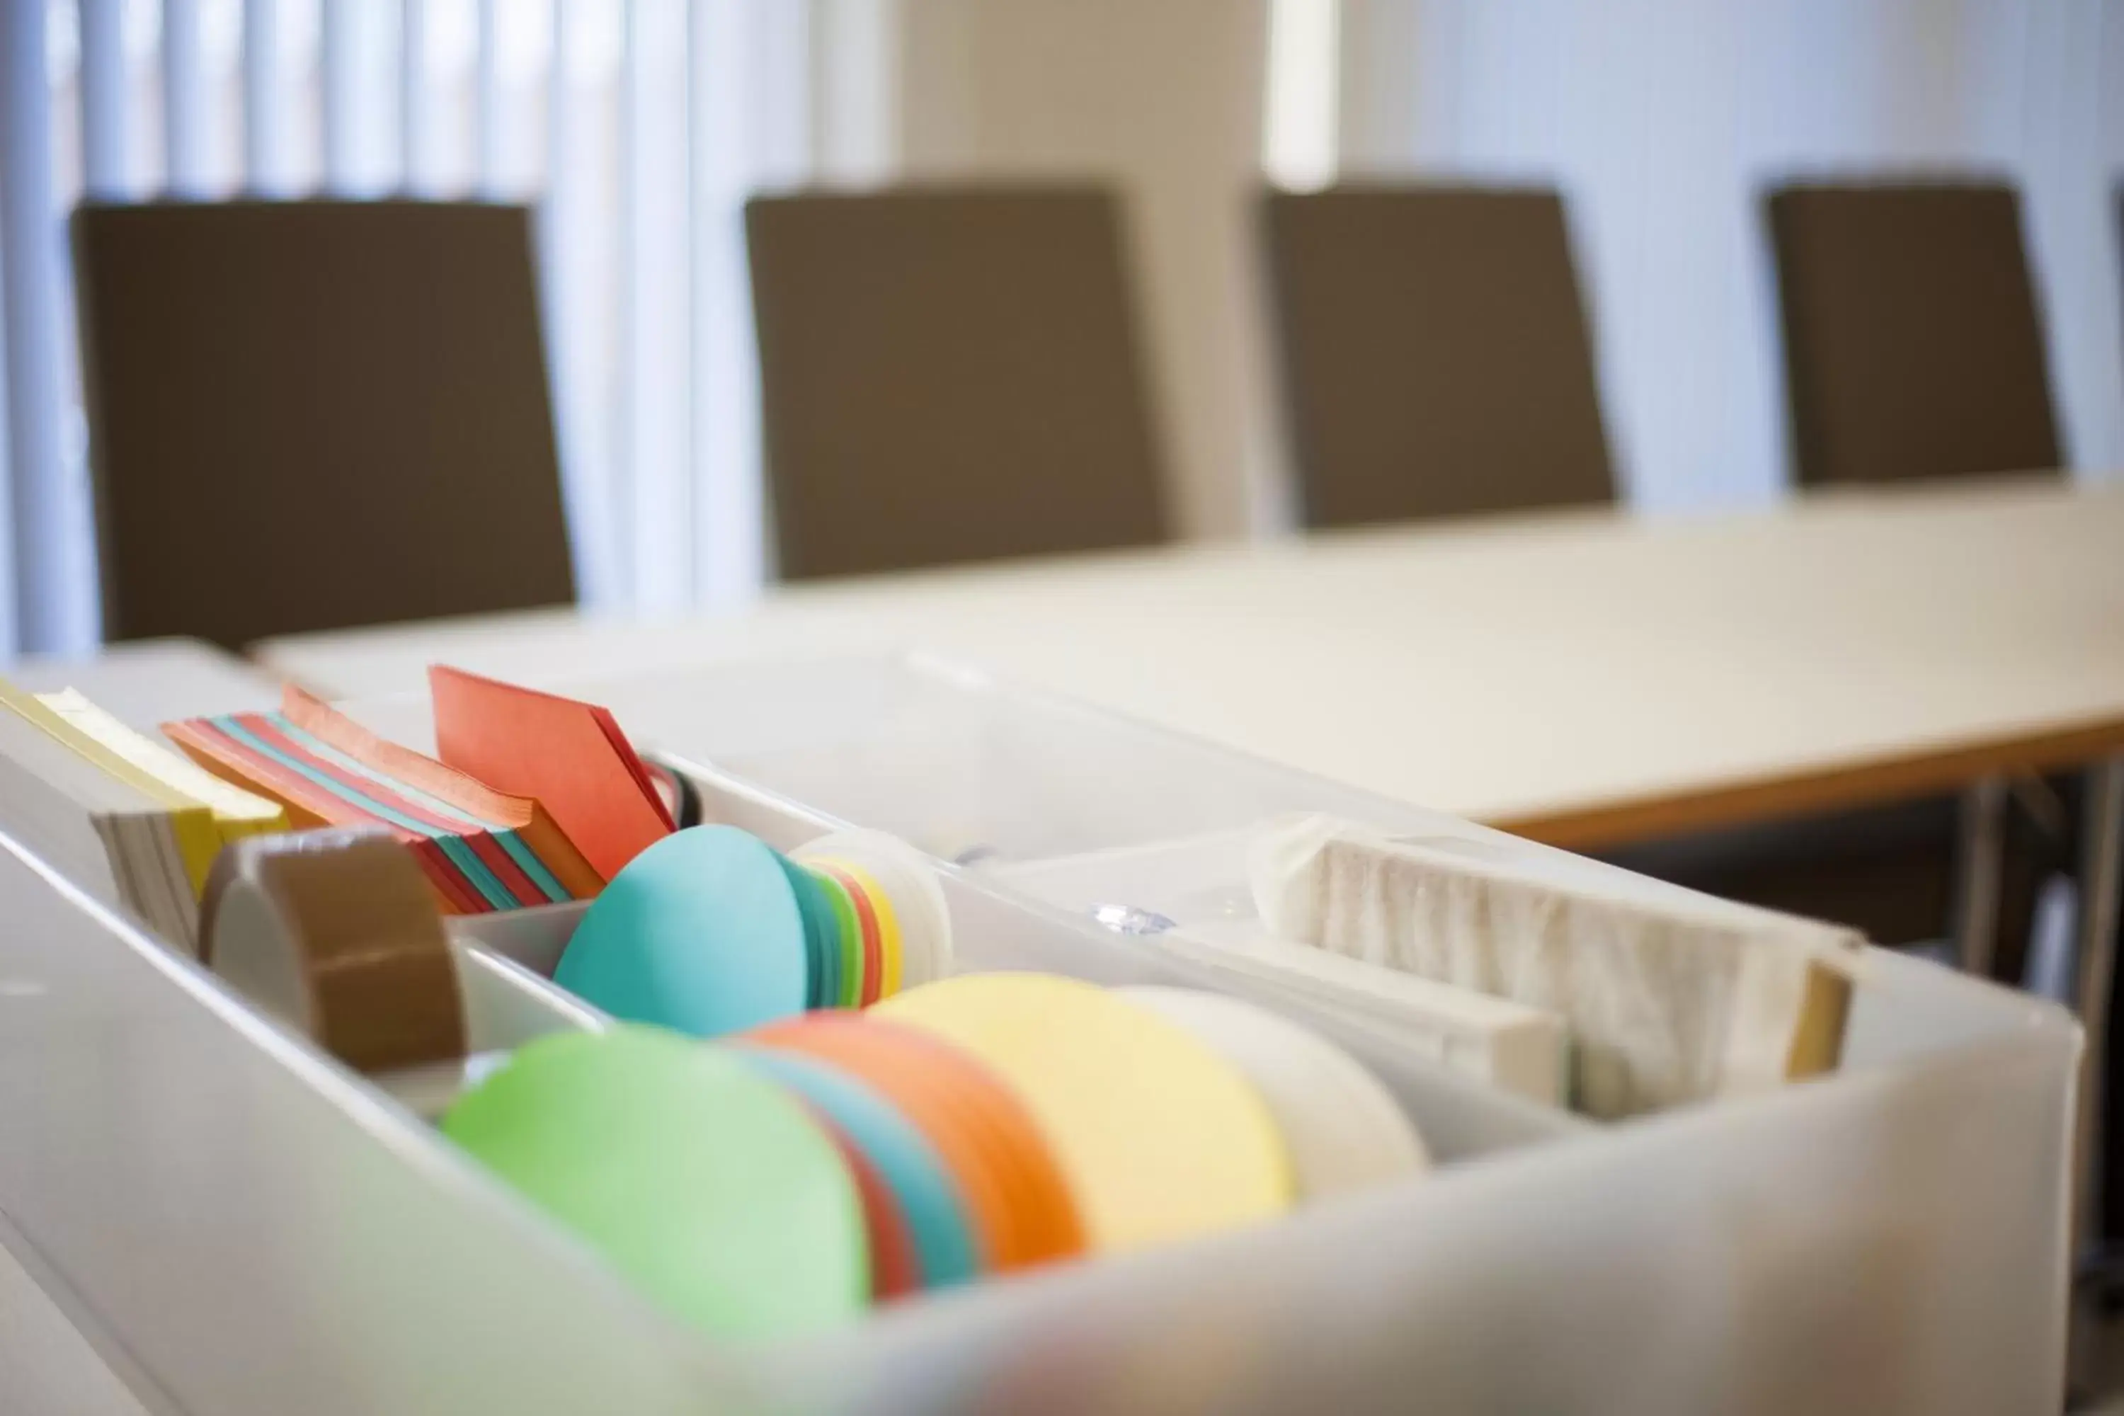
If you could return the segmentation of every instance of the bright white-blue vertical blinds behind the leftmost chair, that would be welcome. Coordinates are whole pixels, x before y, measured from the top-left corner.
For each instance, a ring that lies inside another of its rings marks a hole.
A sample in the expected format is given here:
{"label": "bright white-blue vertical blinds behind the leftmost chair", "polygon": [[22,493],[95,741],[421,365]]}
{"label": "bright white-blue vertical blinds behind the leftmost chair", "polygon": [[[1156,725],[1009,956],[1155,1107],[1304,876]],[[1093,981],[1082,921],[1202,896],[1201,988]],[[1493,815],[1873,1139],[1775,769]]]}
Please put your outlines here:
{"label": "bright white-blue vertical blinds behind the leftmost chair", "polygon": [[756,592],[741,202],[860,172],[892,0],[0,4],[0,654],[96,643],[66,212],[535,202],[584,603]]}

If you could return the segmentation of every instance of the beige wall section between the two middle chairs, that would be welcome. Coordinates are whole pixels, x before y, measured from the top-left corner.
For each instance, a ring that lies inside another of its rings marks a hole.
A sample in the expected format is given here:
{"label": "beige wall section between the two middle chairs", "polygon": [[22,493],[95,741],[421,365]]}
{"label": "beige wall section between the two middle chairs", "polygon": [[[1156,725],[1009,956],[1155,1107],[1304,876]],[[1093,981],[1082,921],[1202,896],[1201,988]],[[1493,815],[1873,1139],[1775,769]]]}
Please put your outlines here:
{"label": "beige wall section between the two middle chairs", "polygon": [[901,0],[907,176],[1111,176],[1183,533],[1270,516],[1251,200],[1266,0]]}

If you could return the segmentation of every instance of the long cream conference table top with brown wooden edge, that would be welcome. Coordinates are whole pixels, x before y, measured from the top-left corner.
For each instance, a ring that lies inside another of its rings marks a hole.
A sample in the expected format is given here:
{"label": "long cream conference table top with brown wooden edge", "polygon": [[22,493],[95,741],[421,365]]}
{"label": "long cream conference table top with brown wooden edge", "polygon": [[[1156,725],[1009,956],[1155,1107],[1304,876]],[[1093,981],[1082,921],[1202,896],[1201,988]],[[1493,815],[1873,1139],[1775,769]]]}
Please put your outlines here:
{"label": "long cream conference table top with brown wooden edge", "polygon": [[2124,484],[1172,548],[255,654],[338,696],[429,662],[593,684],[624,720],[633,675],[892,645],[1589,849],[2124,752]]}

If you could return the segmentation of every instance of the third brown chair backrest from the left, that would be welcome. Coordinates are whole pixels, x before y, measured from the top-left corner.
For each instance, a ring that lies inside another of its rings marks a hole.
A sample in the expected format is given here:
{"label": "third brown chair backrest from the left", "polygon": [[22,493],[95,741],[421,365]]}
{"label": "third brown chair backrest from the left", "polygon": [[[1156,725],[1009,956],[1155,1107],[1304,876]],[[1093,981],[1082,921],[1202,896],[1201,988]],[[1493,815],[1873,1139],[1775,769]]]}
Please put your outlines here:
{"label": "third brown chair backrest from the left", "polygon": [[1557,193],[1270,193],[1264,229],[1308,526],[1614,499]]}

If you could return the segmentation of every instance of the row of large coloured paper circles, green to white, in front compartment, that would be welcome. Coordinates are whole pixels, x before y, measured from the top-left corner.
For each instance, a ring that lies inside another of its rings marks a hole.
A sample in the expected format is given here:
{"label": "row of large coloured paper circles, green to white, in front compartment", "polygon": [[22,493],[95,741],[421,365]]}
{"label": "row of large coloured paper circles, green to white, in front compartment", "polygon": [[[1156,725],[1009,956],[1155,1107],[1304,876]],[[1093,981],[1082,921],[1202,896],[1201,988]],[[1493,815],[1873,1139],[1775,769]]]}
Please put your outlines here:
{"label": "row of large coloured paper circles, green to white, in front compartment", "polygon": [[966,974],[701,1044],[520,1049],[444,1132],[720,1335],[1272,1219],[1425,1170],[1330,1042],[1232,998]]}

